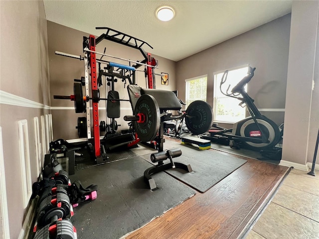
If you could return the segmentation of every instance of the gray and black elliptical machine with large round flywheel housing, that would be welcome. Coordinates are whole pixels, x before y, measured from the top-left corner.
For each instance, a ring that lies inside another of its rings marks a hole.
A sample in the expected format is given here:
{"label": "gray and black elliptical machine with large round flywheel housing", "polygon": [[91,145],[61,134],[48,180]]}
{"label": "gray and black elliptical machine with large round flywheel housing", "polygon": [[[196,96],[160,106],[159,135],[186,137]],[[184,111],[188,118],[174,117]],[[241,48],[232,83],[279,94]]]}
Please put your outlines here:
{"label": "gray and black elliptical machine with large round flywheel housing", "polygon": [[220,91],[228,97],[236,98],[241,101],[239,104],[243,107],[245,104],[251,117],[247,117],[233,124],[233,128],[219,127],[213,124],[214,129],[210,129],[201,138],[211,141],[229,141],[232,148],[243,146],[248,149],[260,151],[273,148],[281,139],[281,133],[277,124],[261,115],[254,104],[254,100],[247,94],[244,87],[253,78],[256,68],[249,67],[247,76],[245,76],[230,92],[227,88],[226,93],[222,91],[222,85],[227,80],[228,70],[223,74],[220,83]]}

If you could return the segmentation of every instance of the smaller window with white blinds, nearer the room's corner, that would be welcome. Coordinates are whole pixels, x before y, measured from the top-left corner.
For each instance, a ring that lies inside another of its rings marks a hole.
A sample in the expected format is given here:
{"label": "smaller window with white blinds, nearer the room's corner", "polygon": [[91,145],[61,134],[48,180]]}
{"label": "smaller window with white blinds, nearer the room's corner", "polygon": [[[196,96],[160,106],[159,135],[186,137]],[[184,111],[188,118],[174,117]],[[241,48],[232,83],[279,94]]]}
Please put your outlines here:
{"label": "smaller window with white blinds, nearer the room's corner", "polygon": [[196,100],[206,101],[207,75],[185,80],[186,82],[186,107]]}

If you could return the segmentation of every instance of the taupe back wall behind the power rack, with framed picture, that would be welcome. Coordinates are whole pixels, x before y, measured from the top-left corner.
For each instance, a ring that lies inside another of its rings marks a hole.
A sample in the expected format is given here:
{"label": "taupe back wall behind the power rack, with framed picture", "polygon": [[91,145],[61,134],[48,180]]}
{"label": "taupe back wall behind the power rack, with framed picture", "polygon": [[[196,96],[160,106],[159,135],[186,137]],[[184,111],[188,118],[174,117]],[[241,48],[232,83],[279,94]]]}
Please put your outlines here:
{"label": "taupe back wall behind the power rack, with framed picture", "polygon": [[[94,26],[92,26],[94,27]],[[55,51],[70,53],[74,55],[83,56],[82,41],[83,36],[89,36],[88,33],[81,32],[54,22],[47,21],[48,29],[48,48],[49,48],[49,64],[50,64],[50,89],[51,89],[51,103],[52,103],[52,119],[54,128],[54,138],[73,139],[77,138],[78,117],[85,117],[85,114],[76,114],[74,111],[74,103],[69,100],[54,100],[53,95],[73,95],[73,79],[80,79],[84,76],[84,62],[64,56],[55,55]],[[99,34],[104,33],[100,31]],[[139,36],[135,36],[139,38]],[[152,45],[152,42],[149,42]],[[106,54],[131,59],[134,61],[143,60],[141,52],[121,44],[117,44],[108,40],[101,41],[96,51],[103,52],[104,47],[107,47]],[[144,48],[148,51],[147,47]],[[101,56],[97,56],[100,58]],[[159,69],[156,73],[168,73],[169,84],[164,86],[160,84],[160,76],[156,76],[156,88],[163,90],[175,90],[175,62],[167,60],[159,56],[153,56],[159,61]],[[103,57],[103,60],[117,62],[128,65],[128,62],[118,59]],[[143,70],[143,67],[139,69]],[[146,81],[143,72],[137,74],[137,84],[142,88],[146,87]],[[104,79],[104,77],[103,77]],[[120,81],[121,82],[121,81]],[[115,90],[120,93],[120,99],[129,99],[127,89],[118,82],[115,84]],[[100,89],[101,98],[105,96],[105,84]],[[58,110],[54,107],[69,107],[70,109]],[[105,108],[105,102],[101,101],[99,107]],[[128,128],[128,124],[123,120],[125,115],[131,115],[131,105],[129,102],[121,102],[121,117],[116,119],[118,124],[121,124],[119,129]],[[105,110],[99,111],[99,120],[105,120]]]}

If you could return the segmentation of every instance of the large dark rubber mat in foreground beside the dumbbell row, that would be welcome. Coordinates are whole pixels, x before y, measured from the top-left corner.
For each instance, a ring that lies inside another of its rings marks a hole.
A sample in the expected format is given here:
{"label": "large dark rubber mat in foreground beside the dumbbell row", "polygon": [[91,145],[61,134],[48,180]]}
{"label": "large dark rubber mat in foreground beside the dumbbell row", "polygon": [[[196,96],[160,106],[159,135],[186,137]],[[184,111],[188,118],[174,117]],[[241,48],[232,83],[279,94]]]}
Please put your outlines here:
{"label": "large dark rubber mat in foreground beside the dumbbell row", "polygon": [[121,238],[195,194],[165,172],[154,175],[159,189],[151,191],[144,182],[144,171],[151,166],[136,156],[76,171],[72,182],[98,185],[97,199],[74,208],[78,239]]}

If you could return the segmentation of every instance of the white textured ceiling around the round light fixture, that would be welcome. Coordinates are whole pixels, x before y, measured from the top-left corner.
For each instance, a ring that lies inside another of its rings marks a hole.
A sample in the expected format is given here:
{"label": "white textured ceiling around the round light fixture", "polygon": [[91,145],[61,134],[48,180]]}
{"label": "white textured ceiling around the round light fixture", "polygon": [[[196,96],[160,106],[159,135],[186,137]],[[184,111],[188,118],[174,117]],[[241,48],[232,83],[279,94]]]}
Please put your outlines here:
{"label": "white textured ceiling around the round light fixture", "polygon": [[[171,21],[156,18],[167,5]],[[101,35],[107,26],[148,42],[144,50],[178,61],[291,12],[291,0],[44,0],[46,18]]]}

